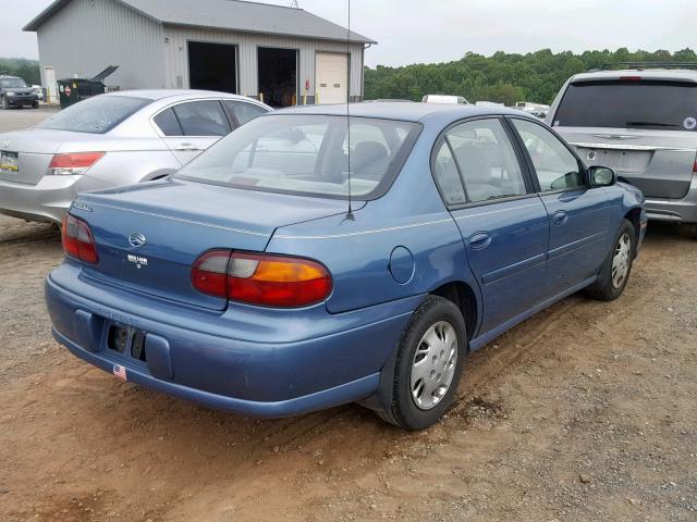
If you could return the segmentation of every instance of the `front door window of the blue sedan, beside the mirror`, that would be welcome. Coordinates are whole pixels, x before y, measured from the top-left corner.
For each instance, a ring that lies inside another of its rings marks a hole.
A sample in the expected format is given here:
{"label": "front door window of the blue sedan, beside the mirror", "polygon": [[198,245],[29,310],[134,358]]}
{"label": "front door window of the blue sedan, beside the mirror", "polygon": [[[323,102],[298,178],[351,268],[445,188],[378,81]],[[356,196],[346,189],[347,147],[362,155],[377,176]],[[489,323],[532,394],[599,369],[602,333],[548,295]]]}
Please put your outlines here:
{"label": "front door window of the blue sedan, beside the mirror", "polygon": [[565,190],[584,186],[578,160],[547,128],[526,120],[513,120],[530,154],[540,191]]}

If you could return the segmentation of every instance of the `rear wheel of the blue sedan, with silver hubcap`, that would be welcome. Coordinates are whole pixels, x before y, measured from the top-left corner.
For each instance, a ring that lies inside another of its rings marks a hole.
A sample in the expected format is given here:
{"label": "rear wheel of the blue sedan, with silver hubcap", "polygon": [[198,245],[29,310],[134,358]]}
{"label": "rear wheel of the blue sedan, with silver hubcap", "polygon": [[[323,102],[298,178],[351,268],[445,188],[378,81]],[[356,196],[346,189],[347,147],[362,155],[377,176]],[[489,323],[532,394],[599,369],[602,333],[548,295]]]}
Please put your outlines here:
{"label": "rear wheel of the blue sedan, with silver hubcap", "polygon": [[392,403],[378,415],[406,430],[423,430],[453,402],[467,353],[467,332],[460,309],[429,296],[404,328],[398,348]]}

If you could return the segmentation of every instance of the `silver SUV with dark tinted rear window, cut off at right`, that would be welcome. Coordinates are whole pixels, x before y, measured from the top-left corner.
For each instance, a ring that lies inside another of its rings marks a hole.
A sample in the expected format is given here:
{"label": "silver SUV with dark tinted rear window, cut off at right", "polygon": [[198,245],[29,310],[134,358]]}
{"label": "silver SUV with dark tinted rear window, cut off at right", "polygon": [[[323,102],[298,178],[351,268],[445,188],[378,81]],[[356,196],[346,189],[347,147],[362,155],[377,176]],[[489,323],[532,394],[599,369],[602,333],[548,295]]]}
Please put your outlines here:
{"label": "silver SUV with dark tinted rear window, cut off at right", "polygon": [[620,65],[571,77],[547,123],[641,189],[650,220],[697,224],[697,64]]}

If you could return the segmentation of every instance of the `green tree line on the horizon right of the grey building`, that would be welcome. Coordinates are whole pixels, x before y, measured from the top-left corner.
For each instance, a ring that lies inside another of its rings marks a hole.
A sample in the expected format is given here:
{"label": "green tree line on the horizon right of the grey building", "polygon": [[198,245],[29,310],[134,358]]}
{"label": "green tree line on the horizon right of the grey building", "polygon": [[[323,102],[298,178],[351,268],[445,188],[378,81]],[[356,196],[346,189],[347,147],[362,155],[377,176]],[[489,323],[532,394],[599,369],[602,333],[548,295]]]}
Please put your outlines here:
{"label": "green tree line on the horizon right of the grey building", "polygon": [[472,103],[493,101],[512,105],[516,101],[551,103],[572,75],[619,62],[697,62],[692,49],[671,53],[616,51],[571,51],[542,49],[527,54],[497,52],[490,57],[466,53],[445,63],[418,63],[401,67],[365,69],[365,99],[383,98],[420,101],[425,95],[464,96]]}

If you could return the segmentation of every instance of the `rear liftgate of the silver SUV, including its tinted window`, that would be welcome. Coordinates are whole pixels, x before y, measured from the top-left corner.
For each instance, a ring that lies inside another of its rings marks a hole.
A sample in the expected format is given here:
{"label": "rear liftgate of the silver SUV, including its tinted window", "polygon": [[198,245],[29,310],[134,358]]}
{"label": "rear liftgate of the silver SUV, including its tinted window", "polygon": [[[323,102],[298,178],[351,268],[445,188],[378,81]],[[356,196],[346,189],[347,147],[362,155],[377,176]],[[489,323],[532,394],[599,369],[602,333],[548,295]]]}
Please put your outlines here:
{"label": "rear liftgate of the silver SUV, including its tinted window", "polygon": [[571,83],[552,123],[586,164],[614,169],[647,197],[687,194],[697,156],[697,84],[640,76]]}

